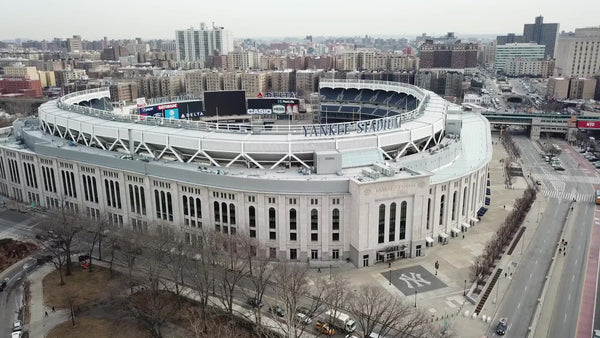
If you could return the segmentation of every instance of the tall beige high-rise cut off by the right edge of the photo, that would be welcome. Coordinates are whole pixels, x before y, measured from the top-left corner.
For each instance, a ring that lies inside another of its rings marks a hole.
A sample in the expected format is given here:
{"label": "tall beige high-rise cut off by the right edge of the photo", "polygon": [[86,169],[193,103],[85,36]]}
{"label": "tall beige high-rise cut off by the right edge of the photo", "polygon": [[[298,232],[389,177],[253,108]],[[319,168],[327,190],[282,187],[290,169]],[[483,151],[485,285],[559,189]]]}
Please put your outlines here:
{"label": "tall beige high-rise cut off by the right edge of the photo", "polygon": [[563,33],[556,46],[555,74],[564,77],[600,75],[600,27]]}

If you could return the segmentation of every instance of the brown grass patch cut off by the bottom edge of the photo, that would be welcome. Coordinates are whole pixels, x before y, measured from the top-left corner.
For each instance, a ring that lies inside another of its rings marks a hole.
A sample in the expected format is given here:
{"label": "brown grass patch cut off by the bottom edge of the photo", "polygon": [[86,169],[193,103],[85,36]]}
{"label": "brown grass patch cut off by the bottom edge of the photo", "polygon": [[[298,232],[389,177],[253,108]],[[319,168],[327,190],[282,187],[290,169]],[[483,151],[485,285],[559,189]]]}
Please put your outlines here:
{"label": "brown grass patch cut off by the bottom edge of the photo", "polygon": [[95,318],[79,317],[75,319],[75,326],[71,321],[66,321],[48,333],[47,338],[145,338],[149,335],[135,326],[127,323]]}

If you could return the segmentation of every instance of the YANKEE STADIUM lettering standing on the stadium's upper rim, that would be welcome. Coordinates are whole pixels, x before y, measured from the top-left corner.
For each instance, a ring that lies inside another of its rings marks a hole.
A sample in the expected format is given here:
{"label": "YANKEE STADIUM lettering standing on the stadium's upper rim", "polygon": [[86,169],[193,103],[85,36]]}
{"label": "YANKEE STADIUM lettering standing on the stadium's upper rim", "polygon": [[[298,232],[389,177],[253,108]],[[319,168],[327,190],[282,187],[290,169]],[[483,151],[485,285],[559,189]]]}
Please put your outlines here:
{"label": "YANKEE STADIUM lettering standing on the stadium's upper rim", "polygon": [[378,120],[302,126],[302,129],[304,130],[304,136],[315,137],[345,135],[349,134],[350,132],[356,132],[357,134],[374,133],[378,131],[397,129],[400,128],[400,125],[401,117],[395,116]]}

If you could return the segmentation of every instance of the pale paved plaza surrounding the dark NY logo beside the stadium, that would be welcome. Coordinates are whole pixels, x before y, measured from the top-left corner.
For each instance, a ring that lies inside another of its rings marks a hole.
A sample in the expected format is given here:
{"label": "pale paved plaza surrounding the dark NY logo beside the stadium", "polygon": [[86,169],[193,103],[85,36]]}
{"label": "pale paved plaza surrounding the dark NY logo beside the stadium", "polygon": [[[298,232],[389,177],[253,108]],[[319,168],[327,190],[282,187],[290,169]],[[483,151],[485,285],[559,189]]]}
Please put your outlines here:
{"label": "pale paved plaza surrounding the dark NY logo beside the stadium", "polygon": [[[508,157],[502,145],[497,142],[497,137],[492,136],[494,140],[493,158],[490,163],[490,189],[491,205],[486,215],[475,226],[467,232],[461,233],[458,237],[450,238],[449,244],[436,244],[433,248],[425,250],[426,256],[411,259],[397,260],[392,262],[392,270],[422,266],[432,275],[435,275],[435,262],[438,261],[440,268],[437,278],[440,279],[446,287],[417,294],[417,306],[426,309],[431,318],[442,325],[445,321],[453,322],[454,332],[460,337],[478,338],[485,334],[485,331],[494,323],[483,322],[480,318],[483,316],[493,317],[497,311],[497,305],[501,302],[506,290],[510,286],[510,274],[518,267],[522,257],[522,252],[529,246],[533,234],[537,229],[540,215],[545,209],[545,198],[538,194],[531,211],[523,223],[527,229],[520,239],[520,243],[515,247],[512,255],[505,255],[497,263],[497,267],[507,271],[507,277],[502,274],[495,289],[488,297],[480,316],[473,319],[471,316],[465,317],[464,313],[468,311],[469,315],[473,313],[476,305],[471,304],[463,296],[469,291],[469,270],[474,259],[480,255],[487,241],[495,234],[508,213],[511,211],[514,201],[522,197],[527,188],[526,178],[529,174],[524,169],[524,177],[514,177],[512,189],[508,189],[504,184],[504,168],[500,159]],[[462,238],[464,234],[465,238]],[[508,248],[507,250],[508,251]],[[329,273],[328,268],[322,268],[321,276]],[[345,263],[339,267],[333,267],[334,278],[343,277],[348,280],[351,287],[356,288],[360,285],[379,285],[388,290],[391,294],[406,298],[407,302],[413,302],[414,295],[404,295],[394,285],[389,285],[388,280],[382,273],[388,272],[387,263],[378,263],[374,266],[356,269],[353,265]],[[316,270],[311,275],[318,276]],[[465,283],[465,280],[467,281]],[[494,303],[494,298],[498,294],[499,299]],[[479,296],[477,296],[477,301]]]}

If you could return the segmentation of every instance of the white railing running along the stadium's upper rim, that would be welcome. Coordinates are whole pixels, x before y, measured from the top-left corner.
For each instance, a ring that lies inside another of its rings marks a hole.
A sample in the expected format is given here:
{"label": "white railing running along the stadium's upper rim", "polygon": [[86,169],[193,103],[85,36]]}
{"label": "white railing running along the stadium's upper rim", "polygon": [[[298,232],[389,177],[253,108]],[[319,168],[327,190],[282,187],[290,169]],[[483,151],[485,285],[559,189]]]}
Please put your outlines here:
{"label": "white railing running along the stadium's upper rim", "polygon": [[[411,88],[412,90],[417,90],[418,88],[410,85],[399,84],[395,82],[386,82],[379,81],[390,84],[398,85],[399,87]],[[199,130],[199,131],[208,131],[208,132],[228,132],[228,133],[243,133],[243,134],[305,134],[307,130],[311,130],[316,128],[320,130],[323,126],[322,124],[302,124],[302,125],[252,125],[252,124],[241,124],[241,123],[219,123],[219,122],[204,122],[204,121],[190,121],[190,120],[175,120],[175,119],[165,119],[162,117],[150,117],[150,116],[141,116],[141,115],[118,115],[113,114],[111,112],[95,109],[91,107],[84,107],[79,105],[68,104],[65,101],[73,98],[75,96],[89,94],[94,92],[104,92],[107,91],[108,88],[95,88],[88,89],[84,91],[79,91],[75,93],[67,94],[60,99],[57,100],[57,107],[60,109],[64,109],[73,113],[93,116],[97,118],[101,118],[104,120],[117,121],[117,122],[125,122],[125,123],[136,123],[136,124],[144,124],[151,126],[163,126],[163,127],[172,127],[172,128],[183,128],[190,130]],[[422,91],[418,90],[423,93]],[[402,113],[400,118],[401,121],[411,120],[420,116],[425,111],[426,103],[429,101],[429,95],[423,93],[423,98],[416,109]],[[384,117],[381,119],[376,119],[377,121],[382,121],[385,123],[386,120],[397,120],[397,116]],[[328,129],[333,130],[344,130],[348,132],[357,131],[356,122],[341,122],[341,123],[330,123],[327,124]]]}

